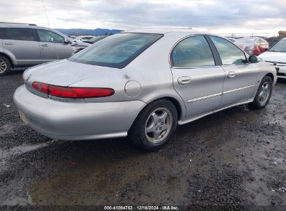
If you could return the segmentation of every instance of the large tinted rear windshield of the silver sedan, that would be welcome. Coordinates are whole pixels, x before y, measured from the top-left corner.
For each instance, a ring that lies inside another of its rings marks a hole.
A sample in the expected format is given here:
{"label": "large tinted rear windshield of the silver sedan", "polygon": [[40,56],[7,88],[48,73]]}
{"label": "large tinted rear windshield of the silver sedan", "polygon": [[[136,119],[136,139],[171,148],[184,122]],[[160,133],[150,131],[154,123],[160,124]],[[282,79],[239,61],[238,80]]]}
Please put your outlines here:
{"label": "large tinted rear windshield of the silver sedan", "polygon": [[71,58],[72,62],[123,68],[163,35],[150,33],[118,33],[106,37]]}

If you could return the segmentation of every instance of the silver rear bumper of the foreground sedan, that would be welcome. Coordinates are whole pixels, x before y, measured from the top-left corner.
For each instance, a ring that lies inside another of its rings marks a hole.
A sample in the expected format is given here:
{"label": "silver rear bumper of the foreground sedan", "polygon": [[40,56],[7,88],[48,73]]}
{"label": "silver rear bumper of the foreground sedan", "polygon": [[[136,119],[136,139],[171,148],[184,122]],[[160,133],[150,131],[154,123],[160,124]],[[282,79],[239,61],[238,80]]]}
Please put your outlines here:
{"label": "silver rear bumper of the foreground sedan", "polygon": [[142,101],[61,102],[33,94],[24,85],[15,91],[14,102],[23,121],[57,140],[125,137],[145,106]]}

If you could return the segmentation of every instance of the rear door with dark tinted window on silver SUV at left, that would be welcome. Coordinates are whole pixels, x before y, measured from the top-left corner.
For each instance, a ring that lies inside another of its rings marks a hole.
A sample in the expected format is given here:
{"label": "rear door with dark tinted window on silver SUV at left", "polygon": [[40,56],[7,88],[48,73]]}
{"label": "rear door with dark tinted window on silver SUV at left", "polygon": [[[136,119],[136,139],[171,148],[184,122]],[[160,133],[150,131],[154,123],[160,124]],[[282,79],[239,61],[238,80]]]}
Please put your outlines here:
{"label": "rear door with dark tinted window on silver SUV at left", "polygon": [[3,51],[17,66],[40,64],[40,47],[35,39],[33,28],[7,28],[3,39]]}

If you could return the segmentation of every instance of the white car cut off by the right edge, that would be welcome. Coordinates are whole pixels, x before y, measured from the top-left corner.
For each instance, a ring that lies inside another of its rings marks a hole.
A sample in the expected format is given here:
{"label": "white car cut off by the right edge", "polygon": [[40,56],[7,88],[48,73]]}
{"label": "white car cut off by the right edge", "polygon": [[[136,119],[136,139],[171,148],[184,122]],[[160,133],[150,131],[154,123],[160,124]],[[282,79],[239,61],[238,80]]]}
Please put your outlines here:
{"label": "white car cut off by the right edge", "polygon": [[286,37],[276,42],[259,57],[276,67],[278,78],[286,78]]}

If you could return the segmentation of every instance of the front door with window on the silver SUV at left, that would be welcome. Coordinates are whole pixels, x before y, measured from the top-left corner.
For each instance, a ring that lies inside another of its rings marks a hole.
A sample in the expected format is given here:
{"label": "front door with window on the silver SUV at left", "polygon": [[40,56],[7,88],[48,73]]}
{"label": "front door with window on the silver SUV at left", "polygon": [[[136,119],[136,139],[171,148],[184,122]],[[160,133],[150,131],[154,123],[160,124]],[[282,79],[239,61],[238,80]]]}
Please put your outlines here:
{"label": "front door with window on the silver SUV at left", "polygon": [[45,29],[35,29],[38,33],[42,62],[69,58],[72,47],[65,43],[65,37]]}

